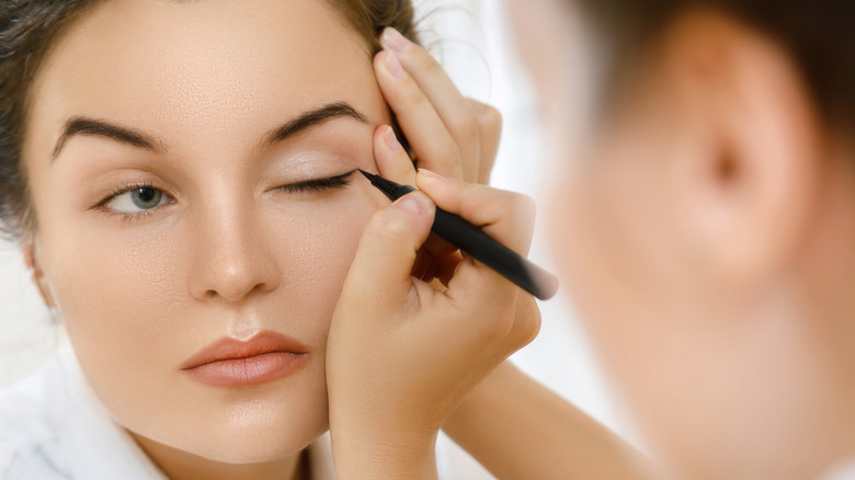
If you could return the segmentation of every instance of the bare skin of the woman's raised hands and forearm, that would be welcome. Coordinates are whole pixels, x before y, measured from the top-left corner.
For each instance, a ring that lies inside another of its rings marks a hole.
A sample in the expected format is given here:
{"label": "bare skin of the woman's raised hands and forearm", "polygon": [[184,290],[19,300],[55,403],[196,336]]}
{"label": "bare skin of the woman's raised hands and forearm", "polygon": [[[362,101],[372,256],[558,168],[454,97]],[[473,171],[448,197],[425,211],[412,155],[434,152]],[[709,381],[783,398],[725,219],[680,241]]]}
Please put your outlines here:
{"label": "bare skin of the woman's raised hands and forearm", "polygon": [[[429,237],[435,203],[525,253],[532,201],[467,183],[489,175],[495,115],[455,102],[459,92],[435,60],[415,45],[394,42],[391,33],[381,36],[387,52],[375,62],[394,56],[407,75],[396,77],[395,90],[394,78],[378,80],[404,129],[413,116],[402,115],[396,100],[426,100],[413,104],[426,119],[413,136],[430,134],[415,140],[428,148],[419,150],[425,152],[419,161],[447,176],[414,175],[397,142],[375,137],[380,173],[421,193],[372,217],[333,316],[327,376],[339,477],[436,478],[434,443],[442,427],[497,478],[645,478],[624,442],[502,363],[536,334],[534,299]],[[449,136],[454,142],[436,141]],[[434,273],[447,289],[418,273],[425,251],[438,255]]]}

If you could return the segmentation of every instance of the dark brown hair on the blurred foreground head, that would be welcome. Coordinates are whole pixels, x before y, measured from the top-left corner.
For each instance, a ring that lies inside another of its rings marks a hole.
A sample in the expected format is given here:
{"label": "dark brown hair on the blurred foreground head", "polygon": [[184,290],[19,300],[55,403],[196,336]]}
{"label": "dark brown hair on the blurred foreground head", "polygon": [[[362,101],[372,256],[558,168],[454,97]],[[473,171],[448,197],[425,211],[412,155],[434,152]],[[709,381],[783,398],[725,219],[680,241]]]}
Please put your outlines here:
{"label": "dark brown hair on the blurred foreground head", "polygon": [[[817,105],[833,123],[855,123],[855,2],[847,0],[577,0],[609,46],[606,75],[631,77],[631,59],[675,15],[713,8],[777,41],[796,61]],[[613,89],[616,87],[611,84]]]}

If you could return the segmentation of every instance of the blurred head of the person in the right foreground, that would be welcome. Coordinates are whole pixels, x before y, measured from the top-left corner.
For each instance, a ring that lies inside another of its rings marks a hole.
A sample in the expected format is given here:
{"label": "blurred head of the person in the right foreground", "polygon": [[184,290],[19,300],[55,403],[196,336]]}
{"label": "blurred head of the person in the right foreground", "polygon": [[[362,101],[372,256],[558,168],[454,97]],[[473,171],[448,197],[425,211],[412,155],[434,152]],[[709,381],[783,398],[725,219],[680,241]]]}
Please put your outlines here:
{"label": "blurred head of the person in the right foreground", "polygon": [[855,457],[851,3],[521,7],[565,285],[651,448],[685,478]]}

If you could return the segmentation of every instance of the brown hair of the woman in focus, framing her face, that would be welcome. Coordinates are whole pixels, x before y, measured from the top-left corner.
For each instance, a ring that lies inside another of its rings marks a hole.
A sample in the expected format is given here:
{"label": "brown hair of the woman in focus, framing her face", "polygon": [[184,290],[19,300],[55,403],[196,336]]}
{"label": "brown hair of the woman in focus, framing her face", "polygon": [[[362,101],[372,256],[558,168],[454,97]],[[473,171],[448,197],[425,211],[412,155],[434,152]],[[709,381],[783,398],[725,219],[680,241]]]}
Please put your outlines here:
{"label": "brown hair of the woman in focus, framing her face", "polygon": [[[0,3],[0,235],[20,240],[34,231],[21,159],[27,93],[42,60],[75,18],[105,0],[2,0]],[[327,0],[366,42],[373,56],[392,26],[418,42],[410,0]]]}

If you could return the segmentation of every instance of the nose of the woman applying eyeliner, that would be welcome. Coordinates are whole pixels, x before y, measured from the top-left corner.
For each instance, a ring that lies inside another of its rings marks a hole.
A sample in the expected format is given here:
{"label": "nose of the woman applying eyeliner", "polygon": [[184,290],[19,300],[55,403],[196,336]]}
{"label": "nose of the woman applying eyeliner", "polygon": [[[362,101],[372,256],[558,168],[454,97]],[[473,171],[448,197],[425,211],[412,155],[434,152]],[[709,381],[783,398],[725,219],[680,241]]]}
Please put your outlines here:
{"label": "nose of the woman applying eyeliner", "polygon": [[251,208],[208,208],[194,224],[190,276],[194,298],[238,302],[278,286],[277,259]]}

